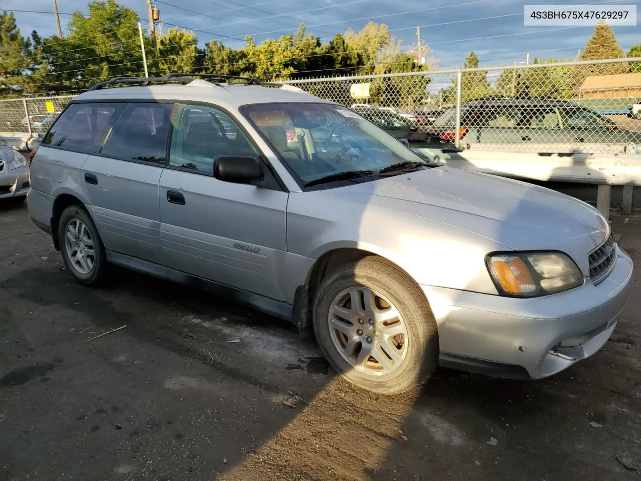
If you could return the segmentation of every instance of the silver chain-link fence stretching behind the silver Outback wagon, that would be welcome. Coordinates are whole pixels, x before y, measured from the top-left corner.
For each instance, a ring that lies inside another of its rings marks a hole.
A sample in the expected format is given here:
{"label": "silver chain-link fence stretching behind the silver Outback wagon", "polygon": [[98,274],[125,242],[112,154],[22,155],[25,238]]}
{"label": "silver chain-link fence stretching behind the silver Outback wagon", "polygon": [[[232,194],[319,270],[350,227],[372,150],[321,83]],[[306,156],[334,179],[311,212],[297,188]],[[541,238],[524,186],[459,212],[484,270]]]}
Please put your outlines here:
{"label": "silver chain-link fence stretching behind the silver Outback wagon", "polygon": [[[641,58],[287,80],[388,131],[463,149],[641,153]],[[0,135],[42,136],[72,96],[0,101]],[[563,184],[569,188],[569,185]],[[565,189],[567,190],[567,189]],[[590,202],[595,186],[576,184]],[[620,189],[613,209],[624,208]],[[641,209],[635,187],[633,210]]]}

